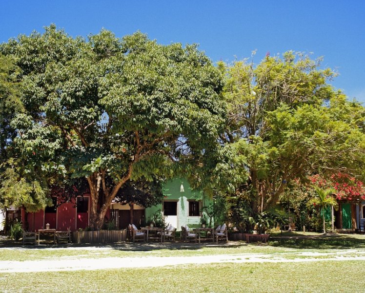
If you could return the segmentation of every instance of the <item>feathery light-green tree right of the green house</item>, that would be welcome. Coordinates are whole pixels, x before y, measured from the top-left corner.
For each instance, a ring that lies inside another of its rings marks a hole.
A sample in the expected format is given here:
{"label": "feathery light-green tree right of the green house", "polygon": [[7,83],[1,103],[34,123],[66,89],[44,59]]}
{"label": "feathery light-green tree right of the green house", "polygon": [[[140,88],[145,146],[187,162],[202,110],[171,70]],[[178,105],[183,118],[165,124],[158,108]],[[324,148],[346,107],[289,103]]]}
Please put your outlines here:
{"label": "feathery light-green tree right of the green house", "polygon": [[[220,138],[246,160],[248,180],[236,192],[254,213],[274,206],[288,182],[307,174],[364,176],[364,107],[328,83],[335,74],[320,60],[287,52],[220,68],[228,104]],[[242,173],[242,164],[237,168]]]}

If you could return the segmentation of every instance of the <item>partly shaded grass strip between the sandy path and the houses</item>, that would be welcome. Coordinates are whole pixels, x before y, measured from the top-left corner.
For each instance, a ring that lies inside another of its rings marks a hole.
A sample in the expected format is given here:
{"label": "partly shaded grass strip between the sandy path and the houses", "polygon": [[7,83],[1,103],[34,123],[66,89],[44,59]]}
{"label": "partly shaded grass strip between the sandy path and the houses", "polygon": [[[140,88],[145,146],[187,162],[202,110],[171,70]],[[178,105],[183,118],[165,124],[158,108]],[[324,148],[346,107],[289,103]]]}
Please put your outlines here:
{"label": "partly shaded grass strip between the sandy path and the houses", "polygon": [[[308,235],[313,238],[305,238]],[[269,245],[247,245],[244,242],[235,241],[229,244],[195,244],[195,243],[169,243],[169,244],[114,244],[114,245],[55,245],[55,246],[20,246],[9,247],[9,240],[2,238],[7,245],[1,245],[0,261],[7,260],[44,260],[60,258],[99,258],[99,257],[141,257],[141,256],[199,256],[214,254],[245,254],[265,253],[284,254],[309,252],[336,252],[355,249],[365,251],[365,235],[336,234],[323,236],[320,233],[304,234],[303,232],[286,232],[283,237],[278,234],[270,236]],[[303,237],[304,238],[301,238]],[[294,258],[292,256],[290,258]]]}

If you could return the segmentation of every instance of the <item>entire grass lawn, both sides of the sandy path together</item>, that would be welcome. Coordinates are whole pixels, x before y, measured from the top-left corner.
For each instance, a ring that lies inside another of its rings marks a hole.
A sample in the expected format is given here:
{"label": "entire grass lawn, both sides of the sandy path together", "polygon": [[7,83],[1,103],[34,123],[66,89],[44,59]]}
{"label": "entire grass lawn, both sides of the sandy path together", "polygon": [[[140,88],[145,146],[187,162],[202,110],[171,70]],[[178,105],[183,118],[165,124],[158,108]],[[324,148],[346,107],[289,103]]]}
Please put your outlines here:
{"label": "entire grass lawn, both sides of the sandy path together", "polygon": [[[0,261],[63,258],[272,254],[284,259],[319,258],[316,262],[220,263],[141,269],[0,273],[0,292],[365,292],[361,260],[322,260],[326,255],[301,252],[344,252],[364,256],[365,235],[323,236],[300,232],[273,234],[270,245],[231,242],[115,244],[101,246],[1,245]],[[6,244],[8,240],[5,239]],[[237,257],[244,257],[237,256]]]}

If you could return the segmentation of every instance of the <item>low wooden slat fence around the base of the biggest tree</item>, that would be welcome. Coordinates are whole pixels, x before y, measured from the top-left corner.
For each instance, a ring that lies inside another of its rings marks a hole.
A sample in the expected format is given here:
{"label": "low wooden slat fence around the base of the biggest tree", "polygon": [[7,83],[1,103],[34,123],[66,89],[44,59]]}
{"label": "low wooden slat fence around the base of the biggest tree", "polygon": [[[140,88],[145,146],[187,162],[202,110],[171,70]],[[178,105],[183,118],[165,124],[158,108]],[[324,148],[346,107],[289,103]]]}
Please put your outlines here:
{"label": "low wooden slat fence around the base of the biggest tree", "polygon": [[74,231],[74,243],[114,243],[125,242],[127,230]]}

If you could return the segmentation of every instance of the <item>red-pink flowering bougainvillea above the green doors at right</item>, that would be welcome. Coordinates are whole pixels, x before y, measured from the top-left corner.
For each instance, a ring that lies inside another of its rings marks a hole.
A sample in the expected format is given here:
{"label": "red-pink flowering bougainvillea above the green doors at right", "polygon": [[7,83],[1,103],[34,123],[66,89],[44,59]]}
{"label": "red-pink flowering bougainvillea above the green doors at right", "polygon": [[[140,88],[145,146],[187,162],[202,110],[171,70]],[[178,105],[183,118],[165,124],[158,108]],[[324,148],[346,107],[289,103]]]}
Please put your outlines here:
{"label": "red-pink flowering bougainvillea above the green doors at right", "polygon": [[309,179],[312,184],[315,184],[320,188],[334,188],[336,190],[335,195],[337,200],[352,201],[360,198],[365,200],[364,183],[348,174],[338,172],[327,180],[316,174],[310,176]]}

